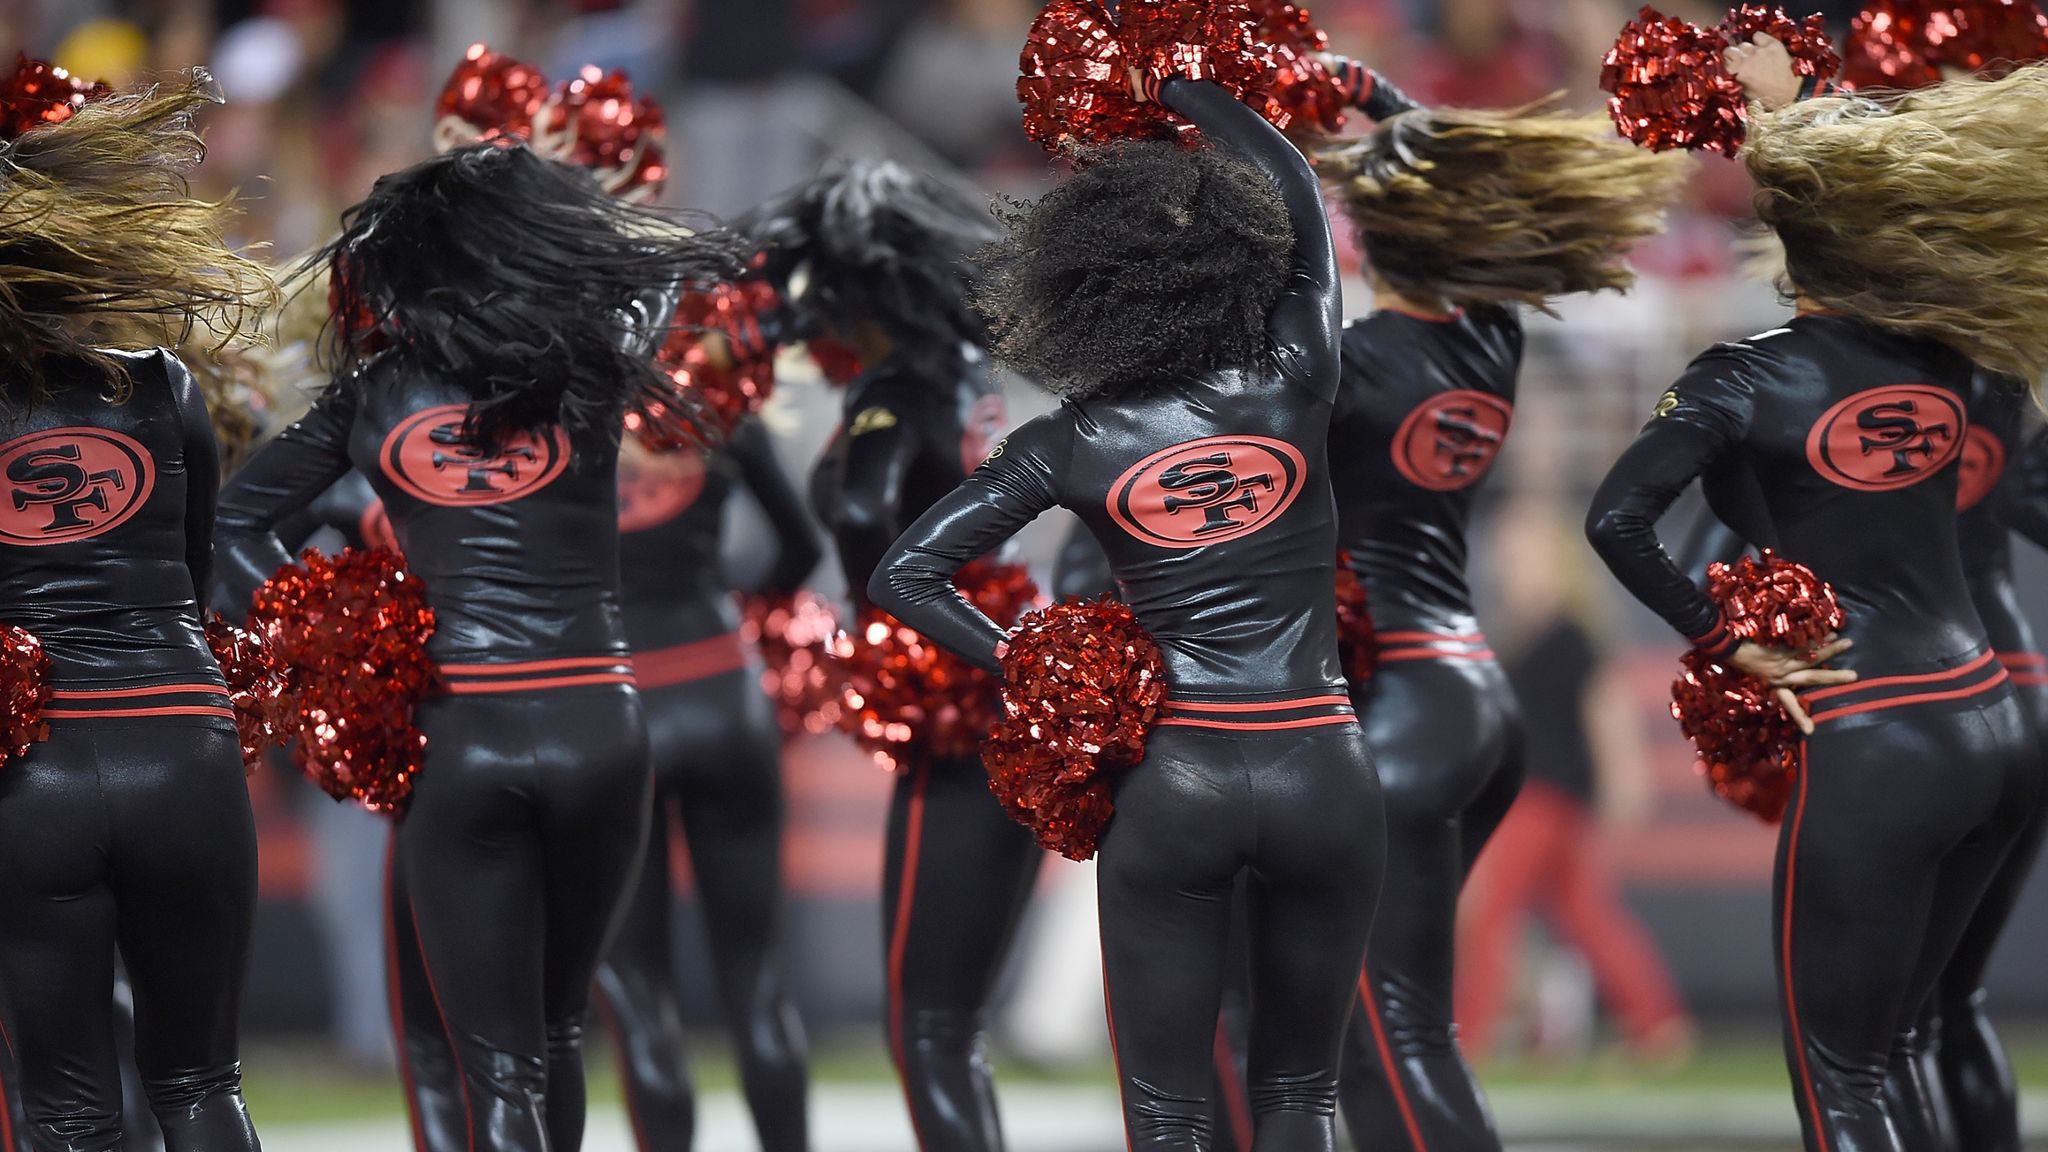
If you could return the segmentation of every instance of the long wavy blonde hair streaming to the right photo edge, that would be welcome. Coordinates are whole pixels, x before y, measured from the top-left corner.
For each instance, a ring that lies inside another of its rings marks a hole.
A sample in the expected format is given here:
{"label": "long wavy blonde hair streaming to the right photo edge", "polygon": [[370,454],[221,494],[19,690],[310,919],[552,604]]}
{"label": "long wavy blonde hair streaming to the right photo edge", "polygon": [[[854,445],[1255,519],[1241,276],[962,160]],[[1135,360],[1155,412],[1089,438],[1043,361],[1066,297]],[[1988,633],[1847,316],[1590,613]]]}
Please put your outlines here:
{"label": "long wavy blonde hair streaming to the right photo edge", "polygon": [[1798,295],[2048,373],[2048,68],[1751,109],[1743,162]]}

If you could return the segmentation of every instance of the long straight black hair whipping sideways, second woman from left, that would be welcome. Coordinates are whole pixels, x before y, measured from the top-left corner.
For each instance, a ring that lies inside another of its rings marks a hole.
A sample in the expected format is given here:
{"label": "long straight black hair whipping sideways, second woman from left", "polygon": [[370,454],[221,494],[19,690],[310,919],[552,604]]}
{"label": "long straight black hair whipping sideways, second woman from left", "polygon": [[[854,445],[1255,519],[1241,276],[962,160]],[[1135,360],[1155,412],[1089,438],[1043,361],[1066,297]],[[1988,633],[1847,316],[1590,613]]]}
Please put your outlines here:
{"label": "long straight black hair whipping sideways, second woman from left", "polygon": [[299,277],[332,271],[336,387],[389,357],[461,385],[489,445],[553,424],[616,435],[629,406],[674,408],[633,303],[727,281],[743,250],[494,139],[379,178]]}

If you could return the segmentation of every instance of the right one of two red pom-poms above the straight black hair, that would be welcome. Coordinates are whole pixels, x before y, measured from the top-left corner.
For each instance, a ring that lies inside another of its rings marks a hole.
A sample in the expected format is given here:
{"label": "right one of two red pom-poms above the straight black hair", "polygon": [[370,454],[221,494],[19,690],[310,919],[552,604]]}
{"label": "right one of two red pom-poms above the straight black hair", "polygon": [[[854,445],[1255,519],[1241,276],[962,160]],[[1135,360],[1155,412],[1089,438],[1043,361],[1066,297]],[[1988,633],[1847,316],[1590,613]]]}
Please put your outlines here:
{"label": "right one of two red pom-poms above the straight black hair", "polygon": [[535,117],[535,148],[590,168],[616,197],[651,201],[668,182],[662,107],[633,94],[625,72],[586,64]]}

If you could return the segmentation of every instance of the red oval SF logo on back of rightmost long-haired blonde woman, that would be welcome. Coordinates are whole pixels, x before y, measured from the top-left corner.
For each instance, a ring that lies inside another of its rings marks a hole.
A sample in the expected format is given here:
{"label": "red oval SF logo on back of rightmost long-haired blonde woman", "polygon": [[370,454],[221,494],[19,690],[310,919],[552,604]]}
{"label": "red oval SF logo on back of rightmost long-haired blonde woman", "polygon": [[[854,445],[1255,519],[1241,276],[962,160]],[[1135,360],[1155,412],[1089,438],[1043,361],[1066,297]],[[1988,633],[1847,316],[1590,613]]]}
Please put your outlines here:
{"label": "red oval SF logo on back of rightmost long-haired blonde woman", "polygon": [[1962,400],[1923,383],[1858,392],[1806,433],[1806,463],[1858,492],[1911,488],[1956,459],[1968,420]]}

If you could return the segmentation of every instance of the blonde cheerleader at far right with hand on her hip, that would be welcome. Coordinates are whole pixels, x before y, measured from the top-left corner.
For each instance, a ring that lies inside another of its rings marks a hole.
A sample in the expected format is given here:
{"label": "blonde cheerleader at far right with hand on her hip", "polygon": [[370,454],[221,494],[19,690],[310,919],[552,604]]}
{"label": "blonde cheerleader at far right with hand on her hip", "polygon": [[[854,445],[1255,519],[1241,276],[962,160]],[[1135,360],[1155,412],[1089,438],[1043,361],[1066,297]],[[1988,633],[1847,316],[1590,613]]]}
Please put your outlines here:
{"label": "blonde cheerleader at far right with hand on her hip", "polygon": [[[2048,367],[2042,125],[2040,68],[1892,107],[1751,109],[1743,160],[1800,316],[1694,361],[1587,517],[1636,599],[1772,683],[1806,734],[1772,931],[1812,1152],[1921,1146],[1886,1070],[2038,806],[2038,750],[1970,607],[1952,465],[1972,357]],[[1833,584],[1841,637],[1792,652],[1729,631],[1657,539],[1694,478],[1743,539]]]}

